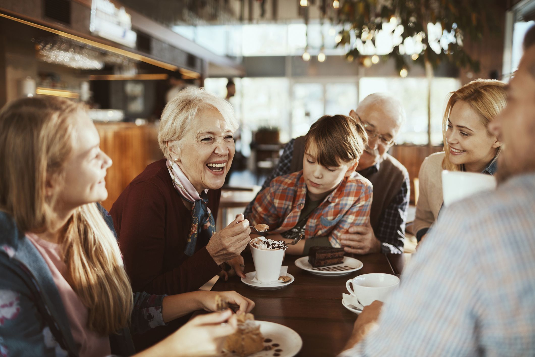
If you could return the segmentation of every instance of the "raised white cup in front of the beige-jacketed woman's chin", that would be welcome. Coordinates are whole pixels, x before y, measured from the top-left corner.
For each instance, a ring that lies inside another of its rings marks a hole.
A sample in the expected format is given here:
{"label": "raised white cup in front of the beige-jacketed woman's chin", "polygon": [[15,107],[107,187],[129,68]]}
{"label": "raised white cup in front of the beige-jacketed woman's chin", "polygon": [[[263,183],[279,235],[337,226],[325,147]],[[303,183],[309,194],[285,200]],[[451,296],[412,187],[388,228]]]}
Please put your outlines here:
{"label": "raised white cup in front of the beige-jacketed woman's chin", "polygon": [[447,207],[455,201],[462,200],[481,191],[496,188],[496,179],[492,175],[463,171],[442,171],[442,197]]}

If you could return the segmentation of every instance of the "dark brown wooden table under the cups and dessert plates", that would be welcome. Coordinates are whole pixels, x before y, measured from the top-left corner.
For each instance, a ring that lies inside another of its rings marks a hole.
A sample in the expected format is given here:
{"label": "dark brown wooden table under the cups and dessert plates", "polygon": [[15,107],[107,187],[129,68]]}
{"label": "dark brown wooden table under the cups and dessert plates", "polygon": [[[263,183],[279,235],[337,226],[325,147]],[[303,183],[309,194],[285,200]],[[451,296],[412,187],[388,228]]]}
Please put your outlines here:
{"label": "dark brown wooden table under the cups and dessert plates", "polygon": [[[249,252],[243,252],[245,272],[254,271]],[[298,356],[335,356],[346,344],[357,315],[342,305],[342,293],[347,293],[346,281],[357,275],[382,272],[398,275],[403,267],[402,255],[368,254],[354,257],[363,262],[362,269],[341,277],[312,275],[295,266],[299,256],[286,255],[282,265],[295,281],[279,290],[257,290],[243,284],[239,277],[224,282],[219,279],[212,291],[236,292],[256,303],[256,320],[276,322],[295,330],[303,339]]]}

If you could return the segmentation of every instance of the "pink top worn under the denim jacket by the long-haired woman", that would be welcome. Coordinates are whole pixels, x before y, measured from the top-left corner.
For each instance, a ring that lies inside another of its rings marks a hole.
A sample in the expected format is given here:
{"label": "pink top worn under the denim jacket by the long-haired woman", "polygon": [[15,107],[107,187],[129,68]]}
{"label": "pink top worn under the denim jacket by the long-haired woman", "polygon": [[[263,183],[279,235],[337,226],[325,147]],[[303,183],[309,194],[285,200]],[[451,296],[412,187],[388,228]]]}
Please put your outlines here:
{"label": "pink top worn under the denim jacket by the long-haired woman", "polygon": [[67,282],[67,265],[63,262],[60,246],[40,239],[33,233],[26,237],[34,244],[47,262],[67,313],[74,343],[80,348],[80,357],[102,357],[111,354],[110,339],[87,328],[87,307]]}

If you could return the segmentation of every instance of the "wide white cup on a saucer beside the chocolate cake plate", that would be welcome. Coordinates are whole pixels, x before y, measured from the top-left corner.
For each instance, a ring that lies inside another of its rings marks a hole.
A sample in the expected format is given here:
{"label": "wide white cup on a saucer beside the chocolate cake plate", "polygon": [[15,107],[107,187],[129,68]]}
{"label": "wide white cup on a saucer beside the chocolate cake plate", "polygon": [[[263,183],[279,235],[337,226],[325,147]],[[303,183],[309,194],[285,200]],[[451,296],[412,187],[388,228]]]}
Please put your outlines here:
{"label": "wide white cup on a saucer beside the chocolate cake plate", "polygon": [[[353,284],[353,289],[349,284]],[[346,288],[363,306],[368,306],[375,300],[385,301],[399,284],[400,279],[395,275],[371,273],[347,280]]]}

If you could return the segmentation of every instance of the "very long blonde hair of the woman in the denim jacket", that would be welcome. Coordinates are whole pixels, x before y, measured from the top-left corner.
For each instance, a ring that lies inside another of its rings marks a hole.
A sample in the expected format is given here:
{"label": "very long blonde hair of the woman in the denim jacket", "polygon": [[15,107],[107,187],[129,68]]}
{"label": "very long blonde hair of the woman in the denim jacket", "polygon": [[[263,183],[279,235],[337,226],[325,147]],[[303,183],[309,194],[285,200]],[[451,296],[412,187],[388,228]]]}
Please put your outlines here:
{"label": "very long blonde hair of the woman in the denim jacket", "polygon": [[[24,98],[0,111],[0,209],[21,232],[47,232],[56,222],[57,194],[50,198],[45,188],[47,181],[62,182],[73,129],[84,111],[56,97]],[[88,308],[88,328],[109,335],[126,327],[132,287],[97,204],[75,209],[62,235],[66,279]]]}

